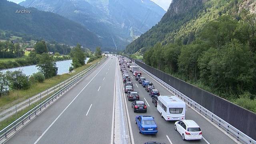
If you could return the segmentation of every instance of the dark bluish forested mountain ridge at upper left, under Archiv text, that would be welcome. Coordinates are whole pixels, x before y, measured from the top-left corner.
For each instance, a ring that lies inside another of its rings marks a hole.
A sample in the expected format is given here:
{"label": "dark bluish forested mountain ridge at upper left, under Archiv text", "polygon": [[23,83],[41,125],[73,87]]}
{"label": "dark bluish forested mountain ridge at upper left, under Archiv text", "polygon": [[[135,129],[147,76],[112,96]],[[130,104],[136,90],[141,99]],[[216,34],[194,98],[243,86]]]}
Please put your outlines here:
{"label": "dark bluish forested mountain ridge at upper left, under Archiv text", "polygon": [[[25,8],[13,2],[0,0],[0,29],[55,40],[69,45],[80,43],[85,47],[101,46],[98,37],[84,26],[51,12]],[[30,13],[16,13],[26,10]]]}

